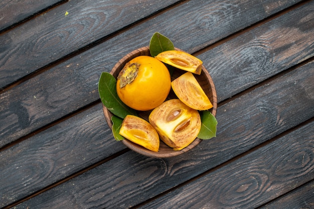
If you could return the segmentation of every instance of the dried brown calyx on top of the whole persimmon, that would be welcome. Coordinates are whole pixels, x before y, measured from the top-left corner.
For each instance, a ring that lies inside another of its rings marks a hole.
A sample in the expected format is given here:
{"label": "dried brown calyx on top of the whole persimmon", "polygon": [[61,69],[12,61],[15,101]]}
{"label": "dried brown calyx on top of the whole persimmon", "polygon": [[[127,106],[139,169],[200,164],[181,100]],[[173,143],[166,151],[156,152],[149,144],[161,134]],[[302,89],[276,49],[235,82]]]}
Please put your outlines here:
{"label": "dried brown calyx on top of the whole persimmon", "polygon": [[120,88],[124,87],[126,84],[131,83],[138,72],[139,63],[133,62],[127,62],[122,70],[119,72],[117,79],[120,79]]}

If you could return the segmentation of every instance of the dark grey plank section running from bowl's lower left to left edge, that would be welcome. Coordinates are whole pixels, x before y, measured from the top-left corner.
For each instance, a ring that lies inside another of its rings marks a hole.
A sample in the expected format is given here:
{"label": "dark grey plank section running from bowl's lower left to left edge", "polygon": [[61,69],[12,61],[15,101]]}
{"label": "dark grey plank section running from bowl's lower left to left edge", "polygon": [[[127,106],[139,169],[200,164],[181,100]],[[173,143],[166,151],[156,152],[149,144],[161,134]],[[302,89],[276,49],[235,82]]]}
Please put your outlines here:
{"label": "dark grey plank section running from bowl's lower left to left edge", "polygon": [[98,104],[0,152],[0,207],[124,148]]}

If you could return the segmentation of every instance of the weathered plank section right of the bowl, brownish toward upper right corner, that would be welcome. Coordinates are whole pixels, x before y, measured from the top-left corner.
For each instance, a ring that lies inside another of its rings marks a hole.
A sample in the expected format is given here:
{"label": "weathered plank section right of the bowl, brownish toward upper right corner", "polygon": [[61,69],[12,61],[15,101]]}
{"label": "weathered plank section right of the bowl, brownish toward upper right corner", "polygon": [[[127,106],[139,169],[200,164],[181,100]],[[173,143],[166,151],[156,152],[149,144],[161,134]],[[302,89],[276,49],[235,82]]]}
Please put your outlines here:
{"label": "weathered plank section right of the bowl, brownish toward upper right corner", "polygon": [[217,83],[218,100],[313,56],[313,8],[311,1],[199,55],[211,57],[204,65]]}

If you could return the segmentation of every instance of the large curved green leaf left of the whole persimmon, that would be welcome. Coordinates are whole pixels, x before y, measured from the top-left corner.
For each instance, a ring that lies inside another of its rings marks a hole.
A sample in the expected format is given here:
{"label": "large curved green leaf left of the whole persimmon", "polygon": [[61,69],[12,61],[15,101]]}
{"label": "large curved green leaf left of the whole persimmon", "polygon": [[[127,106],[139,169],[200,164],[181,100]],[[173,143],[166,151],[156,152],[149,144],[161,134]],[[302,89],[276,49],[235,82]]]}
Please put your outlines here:
{"label": "large curved green leaf left of the whole persimmon", "polygon": [[108,110],[118,117],[127,114],[137,115],[136,111],[124,104],[117,94],[116,79],[108,72],[102,72],[98,82],[98,92],[102,103]]}

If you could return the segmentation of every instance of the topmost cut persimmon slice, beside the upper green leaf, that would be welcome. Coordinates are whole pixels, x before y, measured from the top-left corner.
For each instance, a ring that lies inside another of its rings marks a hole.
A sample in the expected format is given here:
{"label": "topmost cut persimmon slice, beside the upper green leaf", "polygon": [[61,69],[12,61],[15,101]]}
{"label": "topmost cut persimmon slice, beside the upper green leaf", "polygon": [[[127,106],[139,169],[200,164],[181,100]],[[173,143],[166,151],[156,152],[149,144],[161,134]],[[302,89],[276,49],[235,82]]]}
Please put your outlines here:
{"label": "topmost cut persimmon slice, beside the upper green leaf", "polygon": [[155,58],[189,72],[196,74],[201,74],[202,72],[202,60],[184,51],[163,51],[156,55]]}

